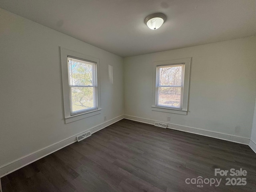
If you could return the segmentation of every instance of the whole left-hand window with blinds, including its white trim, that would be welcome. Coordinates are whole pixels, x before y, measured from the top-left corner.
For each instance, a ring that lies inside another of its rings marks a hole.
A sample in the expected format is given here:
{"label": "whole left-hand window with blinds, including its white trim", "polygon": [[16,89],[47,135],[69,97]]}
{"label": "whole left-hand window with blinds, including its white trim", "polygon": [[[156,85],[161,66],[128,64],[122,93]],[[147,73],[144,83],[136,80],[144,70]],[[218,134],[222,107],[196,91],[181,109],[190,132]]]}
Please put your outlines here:
{"label": "whole left-hand window with blinds, including its white trim", "polygon": [[60,51],[65,123],[100,114],[99,59]]}

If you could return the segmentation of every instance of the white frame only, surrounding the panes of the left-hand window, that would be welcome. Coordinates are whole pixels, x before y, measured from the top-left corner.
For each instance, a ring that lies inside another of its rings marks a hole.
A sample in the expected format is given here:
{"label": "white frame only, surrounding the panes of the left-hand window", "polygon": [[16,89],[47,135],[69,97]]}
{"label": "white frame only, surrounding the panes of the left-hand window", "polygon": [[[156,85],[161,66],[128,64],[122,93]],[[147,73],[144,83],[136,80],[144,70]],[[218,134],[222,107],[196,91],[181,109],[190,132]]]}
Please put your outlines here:
{"label": "white frame only, surrounding the panes of the left-hand window", "polygon": [[[95,74],[97,80],[97,98],[98,109],[92,111],[85,111],[84,113],[76,114],[71,116],[70,111],[70,87],[68,83],[68,60],[67,58],[76,58],[95,63]],[[91,56],[87,56],[72,50],[68,50],[60,47],[60,58],[61,58],[61,74],[62,74],[62,94],[63,94],[63,106],[64,106],[64,119],[65,123],[74,122],[83,118],[100,114],[101,112],[101,100],[100,100],[100,60]]]}

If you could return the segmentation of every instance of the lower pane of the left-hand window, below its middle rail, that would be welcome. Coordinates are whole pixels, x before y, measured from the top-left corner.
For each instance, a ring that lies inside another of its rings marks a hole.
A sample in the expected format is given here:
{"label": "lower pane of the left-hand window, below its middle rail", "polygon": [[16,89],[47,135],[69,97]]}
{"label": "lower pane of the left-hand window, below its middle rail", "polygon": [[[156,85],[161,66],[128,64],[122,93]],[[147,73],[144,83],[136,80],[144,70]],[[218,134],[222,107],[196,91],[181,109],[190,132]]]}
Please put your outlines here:
{"label": "lower pane of the left-hand window, below its middle rail", "polygon": [[94,108],[97,108],[96,87],[70,87],[71,114]]}

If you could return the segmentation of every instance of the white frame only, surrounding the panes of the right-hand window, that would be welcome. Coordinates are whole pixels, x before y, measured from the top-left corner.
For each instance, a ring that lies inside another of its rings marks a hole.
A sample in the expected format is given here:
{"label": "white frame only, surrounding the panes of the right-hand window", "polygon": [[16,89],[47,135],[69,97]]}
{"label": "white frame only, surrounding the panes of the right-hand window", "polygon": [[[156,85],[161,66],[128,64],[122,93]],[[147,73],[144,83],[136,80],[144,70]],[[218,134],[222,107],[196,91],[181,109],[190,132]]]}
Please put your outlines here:
{"label": "white frame only, surrounding the panes of the right-hand window", "polygon": [[[171,65],[178,65],[184,64],[184,80],[183,80],[183,99],[182,99],[182,109],[164,107],[164,106],[157,106],[156,105],[156,90],[157,90],[157,67],[158,66],[171,66]],[[160,111],[160,112],[168,112],[168,113],[176,113],[187,115],[188,112],[188,96],[189,96],[189,83],[190,83],[190,64],[191,58],[182,58],[176,60],[167,60],[167,61],[155,61],[153,63],[153,83],[152,83],[152,107],[153,111]]]}

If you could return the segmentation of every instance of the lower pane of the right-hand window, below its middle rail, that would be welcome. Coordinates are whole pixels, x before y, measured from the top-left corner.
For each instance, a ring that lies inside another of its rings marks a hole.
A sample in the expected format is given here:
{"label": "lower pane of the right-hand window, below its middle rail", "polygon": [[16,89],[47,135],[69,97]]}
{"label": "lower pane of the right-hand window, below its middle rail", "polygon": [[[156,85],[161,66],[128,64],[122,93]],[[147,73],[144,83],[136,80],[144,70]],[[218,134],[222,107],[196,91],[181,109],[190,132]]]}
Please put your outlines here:
{"label": "lower pane of the right-hand window, below its middle rail", "polygon": [[181,109],[182,108],[182,88],[181,87],[158,87],[156,105]]}

